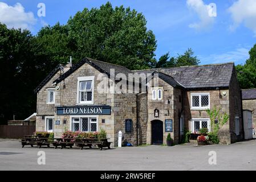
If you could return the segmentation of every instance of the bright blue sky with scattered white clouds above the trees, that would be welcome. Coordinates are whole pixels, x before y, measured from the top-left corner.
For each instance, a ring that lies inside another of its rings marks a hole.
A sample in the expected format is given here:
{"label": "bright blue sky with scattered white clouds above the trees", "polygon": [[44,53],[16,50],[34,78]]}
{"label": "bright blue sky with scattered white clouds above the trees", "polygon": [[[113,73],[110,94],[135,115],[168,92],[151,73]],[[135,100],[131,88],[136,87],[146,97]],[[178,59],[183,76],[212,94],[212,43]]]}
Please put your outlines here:
{"label": "bright blue sky with scattered white clouds above the trees", "polygon": [[[2,2],[2,3],[1,3]],[[0,22],[9,27],[29,28],[36,34],[45,24],[65,24],[77,11],[106,3],[103,0],[9,0],[0,1]],[[243,64],[248,51],[256,43],[255,0],[115,0],[113,6],[124,5],[145,15],[147,27],[156,35],[156,58],[166,52],[171,56],[189,47],[201,64]],[[17,5],[20,3],[20,5]],[[46,6],[46,16],[38,17],[38,3]],[[208,14],[215,3],[217,16]],[[22,9],[23,7],[23,9]],[[1,14],[2,11],[2,14]]]}

